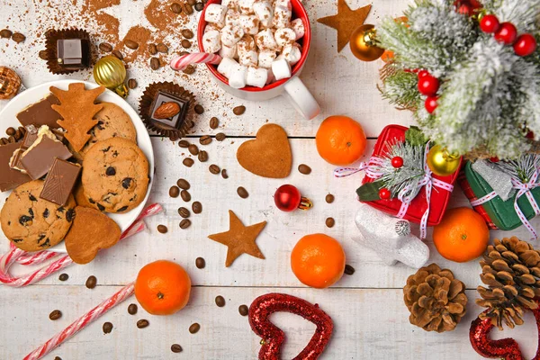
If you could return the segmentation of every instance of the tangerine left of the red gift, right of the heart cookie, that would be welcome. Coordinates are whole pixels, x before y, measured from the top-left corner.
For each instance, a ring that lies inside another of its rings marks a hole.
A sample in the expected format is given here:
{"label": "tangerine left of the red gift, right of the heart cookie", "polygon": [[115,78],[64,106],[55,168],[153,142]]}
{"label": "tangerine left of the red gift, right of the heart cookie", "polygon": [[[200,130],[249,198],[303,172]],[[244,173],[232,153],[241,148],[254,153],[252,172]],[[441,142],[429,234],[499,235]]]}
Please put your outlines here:
{"label": "tangerine left of the red gift, right of the heart cookie", "polygon": [[347,116],[330,116],[320,123],[315,137],[320,157],[332,165],[349,165],[364,155],[362,125]]}

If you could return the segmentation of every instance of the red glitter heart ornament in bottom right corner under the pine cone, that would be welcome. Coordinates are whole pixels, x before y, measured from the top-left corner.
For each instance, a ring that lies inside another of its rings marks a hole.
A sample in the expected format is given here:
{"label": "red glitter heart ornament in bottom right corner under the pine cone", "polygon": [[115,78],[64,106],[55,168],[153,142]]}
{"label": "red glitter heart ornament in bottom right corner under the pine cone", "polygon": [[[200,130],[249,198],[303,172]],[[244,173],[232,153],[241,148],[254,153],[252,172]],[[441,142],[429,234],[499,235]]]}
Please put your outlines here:
{"label": "red glitter heart ornament in bottom right corner under the pine cone", "polygon": [[[540,300],[535,299],[540,306]],[[538,329],[538,348],[536,356],[532,360],[540,360],[540,307],[533,311],[536,319],[536,328]],[[513,338],[502,338],[500,340],[491,340],[489,338],[491,329],[491,319],[481,320],[476,318],[471,324],[469,338],[474,350],[484,357],[502,358],[505,360],[525,360],[525,357],[519,349],[518,342]]]}

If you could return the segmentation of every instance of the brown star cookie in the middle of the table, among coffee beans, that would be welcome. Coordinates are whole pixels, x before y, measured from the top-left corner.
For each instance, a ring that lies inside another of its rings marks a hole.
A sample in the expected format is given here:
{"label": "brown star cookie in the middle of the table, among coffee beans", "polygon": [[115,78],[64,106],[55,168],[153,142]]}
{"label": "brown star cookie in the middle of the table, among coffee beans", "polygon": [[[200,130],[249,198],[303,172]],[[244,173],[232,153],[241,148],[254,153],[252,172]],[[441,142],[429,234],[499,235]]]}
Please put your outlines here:
{"label": "brown star cookie in the middle of the table, among coffee beans", "polygon": [[229,210],[229,231],[212,234],[208,238],[228,247],[225,267],[229,267],[242,254],[248,254],[252,257],[262,259],[265,258],[255,243],[258,234],[265,226],[266,221],[259,222],[255,225],[244,226],[242,221],[238,219],[238,216]]}

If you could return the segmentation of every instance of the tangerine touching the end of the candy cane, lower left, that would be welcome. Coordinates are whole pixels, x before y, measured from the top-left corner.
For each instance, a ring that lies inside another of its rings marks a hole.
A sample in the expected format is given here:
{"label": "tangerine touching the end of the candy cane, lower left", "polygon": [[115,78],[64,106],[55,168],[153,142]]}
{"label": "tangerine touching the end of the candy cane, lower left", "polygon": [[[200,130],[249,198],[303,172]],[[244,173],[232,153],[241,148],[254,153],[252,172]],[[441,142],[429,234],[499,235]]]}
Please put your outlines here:
{"label": "tangerine touching the end of the candy cane, lower left", "polygon": [[135,281],[135,297],[152,315],[171,315],[189,301],[191,279],[172,261],[158,260],[144,266]]}

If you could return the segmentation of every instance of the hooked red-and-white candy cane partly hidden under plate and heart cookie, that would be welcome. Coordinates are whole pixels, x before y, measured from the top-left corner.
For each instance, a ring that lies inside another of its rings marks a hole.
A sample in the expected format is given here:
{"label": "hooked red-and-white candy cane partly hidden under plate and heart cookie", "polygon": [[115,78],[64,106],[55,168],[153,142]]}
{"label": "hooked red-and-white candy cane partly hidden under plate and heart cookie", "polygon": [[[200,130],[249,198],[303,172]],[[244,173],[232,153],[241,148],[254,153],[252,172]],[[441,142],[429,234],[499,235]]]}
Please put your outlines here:
{"label": "hooked red-and-white candy cane partly hidden under plate and heart cookie", "polygon": [[[137,220],[135,220],[128,229],[122,232],[121,239],[129,238],[131,235],[135,235],[146,229],[146,224],[144,223],[143,219],[147,218],[148,216],[156,215],[161,211],[163,211],[163,208],[160,204],[154,203],[149,205],[140,213]],[[14,265],[14,263],[18,263],[23,266],[39,265],[53,257],[58,257],[58,259],[50,263],[48,266],[43,266],[29,274],[21,276],[12,276],[9,274],[9,268]],[[71,264],[73,264],[73,260],[71,260],[71,257],[69,257],[67,254],[47,250],[36,253],[28,253],[18,247],[15,247],[12,243],[10,250],[0,257],[0,284],[13,287],[28,286],[30,284],[39,282],[40,280],[56,273],[58,270],[61,270],[64,267],[70,266]]]}

